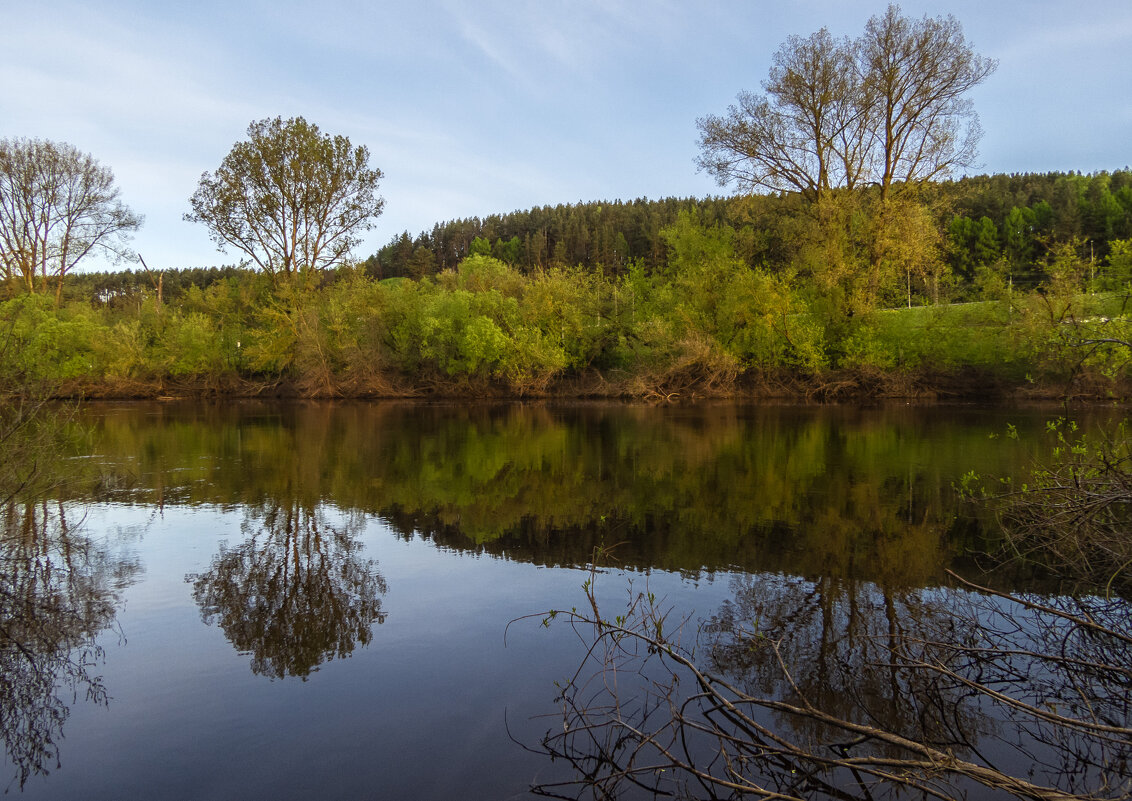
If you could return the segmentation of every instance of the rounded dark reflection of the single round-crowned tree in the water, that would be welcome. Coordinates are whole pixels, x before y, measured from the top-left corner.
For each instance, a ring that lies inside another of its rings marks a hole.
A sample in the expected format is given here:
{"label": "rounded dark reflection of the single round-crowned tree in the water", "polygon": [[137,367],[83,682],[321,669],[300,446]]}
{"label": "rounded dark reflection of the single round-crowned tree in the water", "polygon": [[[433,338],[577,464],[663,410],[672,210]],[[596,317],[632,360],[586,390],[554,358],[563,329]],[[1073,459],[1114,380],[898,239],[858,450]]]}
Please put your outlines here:
{"label": "rounded dark reflection of the single round-crowned tree in the water", "polygon": [[362,525],[360,515],[332,525],[314,503],[268,501],[249,515],[241,545],[222,546],[211,570],[188,576],[201,617],[251,654],[259,675],[306,679],[349,656],[385,621],[385,579],[360,558]]}

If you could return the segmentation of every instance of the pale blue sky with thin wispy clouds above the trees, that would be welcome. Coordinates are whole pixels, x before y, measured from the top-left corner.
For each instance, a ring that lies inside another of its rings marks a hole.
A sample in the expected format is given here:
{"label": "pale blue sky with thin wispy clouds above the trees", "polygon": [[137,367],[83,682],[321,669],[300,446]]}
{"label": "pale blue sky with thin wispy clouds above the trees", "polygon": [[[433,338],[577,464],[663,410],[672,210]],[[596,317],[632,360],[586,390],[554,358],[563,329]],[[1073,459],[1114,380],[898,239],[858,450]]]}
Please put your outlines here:
{"label": "pale blue sky with thin wispy clouds above the trees", "polygon": [[[182,219],[256,120],[305,117],[381,170],[354,251],[437,222],[590,200],[727,195],[696,120],[761,91],[787,37],[857,36],[851,0],[0,0],[0,138],[66,141],[144,215],[151,268],[237,264]],[[923,0],[998,69],[970,98],[978,173],[1132,164],[1132,2]],[[130,266],[130,265],[127,265]],[[104,269],[92,262],[89,268]]]}

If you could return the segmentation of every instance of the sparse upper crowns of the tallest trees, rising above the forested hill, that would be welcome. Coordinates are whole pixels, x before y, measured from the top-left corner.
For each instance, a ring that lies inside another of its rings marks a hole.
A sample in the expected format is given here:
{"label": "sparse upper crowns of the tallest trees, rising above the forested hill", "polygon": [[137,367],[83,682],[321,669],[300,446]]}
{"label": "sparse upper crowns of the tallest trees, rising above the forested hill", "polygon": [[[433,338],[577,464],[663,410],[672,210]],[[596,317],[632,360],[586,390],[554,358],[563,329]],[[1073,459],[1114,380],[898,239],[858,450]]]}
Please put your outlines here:
{"label": "sparse upper crowns of the tallest trees, rising above the forested hill", "polygon": [[826,29],[791,36],[765,95],[744,92],[727,117],[697,121],[698,165],[721,186],[799,191],[817,200],[863,183],[915,184],[974,163],[978,118],[966,93],[997,63],[953,17],[909,19],[899,6],[857,41]]}

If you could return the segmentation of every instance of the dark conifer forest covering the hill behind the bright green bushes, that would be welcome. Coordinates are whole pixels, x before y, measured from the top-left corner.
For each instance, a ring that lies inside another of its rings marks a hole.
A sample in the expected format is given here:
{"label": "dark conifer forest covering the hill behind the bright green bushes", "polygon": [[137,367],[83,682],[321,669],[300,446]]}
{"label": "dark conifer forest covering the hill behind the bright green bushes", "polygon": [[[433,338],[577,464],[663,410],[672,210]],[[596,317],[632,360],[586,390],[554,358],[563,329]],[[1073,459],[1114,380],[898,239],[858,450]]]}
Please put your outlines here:
{"label": "dark conifer forest covering the hill behind the bright green bushes", "polygon": [[[1091,260],[1108,243],[1132,236],[1132,172],[978,175],[934,183],[925,192],[945,242],[947,267],[974,282],[980,267],[1004,260],[1034,284],[1049,243],[1075,241]],[[530,273],[581,265],[621,275],[631,262],[655,270],[668,248],[661,232],[680,212],[737,233],[737,251],[752,267],[789,264],[801,199],[796,195],[666,198],[542,206],[511,214],[438,223],[415,238],[406,231],[363,262],[376,278],[420,278],[453,269],[473,253]],[[1038,264],[1036,264],[1038,262]]]}

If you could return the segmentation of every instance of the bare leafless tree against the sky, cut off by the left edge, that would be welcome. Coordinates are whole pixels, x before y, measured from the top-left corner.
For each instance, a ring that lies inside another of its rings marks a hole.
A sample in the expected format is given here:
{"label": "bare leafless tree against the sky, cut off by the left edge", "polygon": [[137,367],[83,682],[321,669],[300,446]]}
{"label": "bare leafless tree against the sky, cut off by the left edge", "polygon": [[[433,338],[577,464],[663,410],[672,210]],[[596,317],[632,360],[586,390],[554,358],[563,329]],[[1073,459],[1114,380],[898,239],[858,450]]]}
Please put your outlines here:
{"label": "bare leafless tree against the sky, cut off by the left edge", "polygon": [[129,256],[128,236],[142,225],[119,197],[114,175],[67,143],[0,140],[0,266],[3,277],[55,300],[63,277],[101,251]]}

